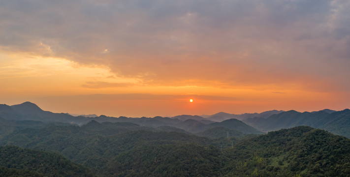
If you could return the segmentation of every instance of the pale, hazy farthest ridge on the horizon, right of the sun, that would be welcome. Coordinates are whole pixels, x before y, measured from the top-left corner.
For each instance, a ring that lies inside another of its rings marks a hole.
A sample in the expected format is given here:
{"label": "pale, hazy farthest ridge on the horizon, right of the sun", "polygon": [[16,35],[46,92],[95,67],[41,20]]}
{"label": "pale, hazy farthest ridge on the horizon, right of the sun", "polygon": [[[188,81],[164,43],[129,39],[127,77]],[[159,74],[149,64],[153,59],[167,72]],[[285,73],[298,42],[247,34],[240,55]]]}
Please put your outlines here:
{"label": "pale, hazy farthest ridge on the horizon, right of the sun", "polygon": [[228,114],[228,113],[224,113],[224,112],[220,112],[214,115],[211,115],[208,117],[208,119],[212,120],[212,121],[223,121],[223,120],[227,120],[227,119],[231,119],[231,118],[235,118],[238,120],[244,120],[247,118],[254,118],[254,117],[259,117],[259,118],[268,118],[271,115],[274,114],[279,114],[279,113],[283,113],[285,111],[277,111],[277,110],[272,110],[272,111],[265,111],[262,113],[245,113],[245,114],[240,114],[240,115],[235,115],[235,114]]}

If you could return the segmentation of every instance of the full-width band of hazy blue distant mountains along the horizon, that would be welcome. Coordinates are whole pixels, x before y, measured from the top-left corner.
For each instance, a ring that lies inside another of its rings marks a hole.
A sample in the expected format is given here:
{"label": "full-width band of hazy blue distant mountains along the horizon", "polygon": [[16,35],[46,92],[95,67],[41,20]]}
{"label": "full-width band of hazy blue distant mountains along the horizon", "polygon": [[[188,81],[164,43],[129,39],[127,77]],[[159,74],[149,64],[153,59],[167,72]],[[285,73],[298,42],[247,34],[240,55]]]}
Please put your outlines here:
{"label": "full-width band of hazy blue distant mountains along the horizon", "polygon": [[[206,118],[191,115],[180,115],[172,118],[159,116],[154,118],[127,118],[122,116],[115,118],[104,115],[98,117],[96,115],[90,116],[72,116],[65,113],[43,111],[31,102],[24,102],[13,106],[5,104],[0,105],[0,121],[7,121],[6,125],[13,125],[14,122],[9,123],[9,120],[17,121],[17,123],[23,123],[19,121],[31,120],[43,123],[63,122],[78,125],[85,124],[91,120],[96,120],[98,122],[131,122],[141,126],[155,128],[160,126],[172,126],[191,133],[199,133],[209,128],[219,126],[237,130],[244,134],[256,134],[259,133],[259,131],[268,132],[279,130],[281,128],[306,125],[328,130],[334,134],[350,137],[349,109],[343,111],[324,109],[321,111],[303,113],[294,110],[272,110],[262,113],[246,113],[240,115],[220,112],[207,116]],[[2,127],[1,129],[5,128]]]}

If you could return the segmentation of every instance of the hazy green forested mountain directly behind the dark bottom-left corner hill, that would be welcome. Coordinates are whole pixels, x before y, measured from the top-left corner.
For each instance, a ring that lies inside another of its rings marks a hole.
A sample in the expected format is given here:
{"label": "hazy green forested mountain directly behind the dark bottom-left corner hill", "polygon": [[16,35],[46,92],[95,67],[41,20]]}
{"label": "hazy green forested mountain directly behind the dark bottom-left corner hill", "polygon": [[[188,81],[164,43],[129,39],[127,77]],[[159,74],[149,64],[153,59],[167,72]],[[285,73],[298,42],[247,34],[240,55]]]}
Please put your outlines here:
{"label": "hazy green forested mountain directly behind the dark bottom-left corner hill", "polygon": [[21,129],[0,140],[1,145],[59,152],[73,162],[91,168],[101,177],[108,176],[107,165],[111,165],[110,161],[114,157],[134,148],[161,145],[181,147],[183,144],[209,145],[207,138],[185,133],[164,132],[129,122],[98,123],[97,121],[91,121],[81,127],[50,126],[41,129]]}

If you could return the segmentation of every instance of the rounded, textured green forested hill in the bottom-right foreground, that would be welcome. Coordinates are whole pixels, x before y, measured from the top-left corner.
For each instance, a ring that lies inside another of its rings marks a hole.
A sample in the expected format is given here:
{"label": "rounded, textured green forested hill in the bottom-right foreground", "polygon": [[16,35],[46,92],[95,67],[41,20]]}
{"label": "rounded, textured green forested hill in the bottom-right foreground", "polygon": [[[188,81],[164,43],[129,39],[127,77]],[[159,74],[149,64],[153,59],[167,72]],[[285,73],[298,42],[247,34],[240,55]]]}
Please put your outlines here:
{"label": "rounded, textured green forested hill in the bottom-right foreground", "polygon": [[298,126],[224,149],[229,176],[349,177],[350,139]]}

